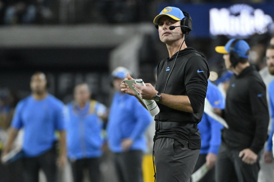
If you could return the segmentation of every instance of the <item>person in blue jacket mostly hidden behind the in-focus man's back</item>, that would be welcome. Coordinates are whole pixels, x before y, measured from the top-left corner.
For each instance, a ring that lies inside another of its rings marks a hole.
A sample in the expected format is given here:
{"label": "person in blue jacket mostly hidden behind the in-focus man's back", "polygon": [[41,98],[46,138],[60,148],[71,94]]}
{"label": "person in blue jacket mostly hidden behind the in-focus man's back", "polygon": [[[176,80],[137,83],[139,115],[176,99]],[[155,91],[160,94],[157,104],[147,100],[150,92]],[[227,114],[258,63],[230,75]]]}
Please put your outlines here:
{"label": "person in blue jacket mostly hidden behind the in-focus man's back", "polygon": [[[208,80],[206,98],[212,107],[225,108],[225,100],[217,86]],[[197,171],[204,163],[208,169],[207,174],[199,182],[214,182],[214,165],[221,144],[221,129],[223,125],[207,115],[203,114],[202,121],[198,123],[201,133],[201,151],[194,168]]]}

